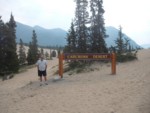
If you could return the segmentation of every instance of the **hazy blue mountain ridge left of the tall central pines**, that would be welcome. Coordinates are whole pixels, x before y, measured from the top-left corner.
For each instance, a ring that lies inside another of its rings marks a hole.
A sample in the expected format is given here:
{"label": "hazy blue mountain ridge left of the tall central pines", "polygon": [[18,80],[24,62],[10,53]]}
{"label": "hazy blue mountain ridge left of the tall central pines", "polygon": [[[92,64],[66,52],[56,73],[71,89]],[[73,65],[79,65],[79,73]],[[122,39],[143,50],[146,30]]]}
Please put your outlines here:
{"label": "hazy blue mountain ridge left of the tall central pines", "polygon": [[64,46],[66,44],[66,36],[67,32],[63,29],[45,29],[40,26],[28,26],[17,23],[16,27],[16,36],[17,42],[19,42],[20,38],[24,43],[29,43],[32,40],[32,31],[35,30],[37,34],[38,45],[42,46]]}

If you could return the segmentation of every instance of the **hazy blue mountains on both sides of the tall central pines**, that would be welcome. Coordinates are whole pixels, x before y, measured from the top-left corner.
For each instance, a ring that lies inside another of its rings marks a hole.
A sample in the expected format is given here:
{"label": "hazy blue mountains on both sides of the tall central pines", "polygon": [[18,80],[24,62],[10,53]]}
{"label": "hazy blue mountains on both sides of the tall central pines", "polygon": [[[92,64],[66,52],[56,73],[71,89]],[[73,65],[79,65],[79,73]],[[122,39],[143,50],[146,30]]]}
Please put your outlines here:
{"label": "hazy blue mountains on both sides of the tall central pines", "polygon": [[[17,42],[19,42],[20,38],[24,43],[29,43],[32,38],[32,31],[35,30],[38,39],[38,45],[41,46],[64,46],[66,45],[66,37],[67,31],[56,28],[56,29],[45,29],[40,26],[31,27],[28,25],[21,24],[17,22],[16,28],[16,36]],[[109,36],[105,39],[107,46],[110,47],[115,46],[115,40],[118,38],[118,29],[114,27],[106,27],[106,34]],[[126,34],[124,34],[124,38],[130,40],[130,44],[136,48],[140,47],[136,44],[131,38],[129,38]]]}

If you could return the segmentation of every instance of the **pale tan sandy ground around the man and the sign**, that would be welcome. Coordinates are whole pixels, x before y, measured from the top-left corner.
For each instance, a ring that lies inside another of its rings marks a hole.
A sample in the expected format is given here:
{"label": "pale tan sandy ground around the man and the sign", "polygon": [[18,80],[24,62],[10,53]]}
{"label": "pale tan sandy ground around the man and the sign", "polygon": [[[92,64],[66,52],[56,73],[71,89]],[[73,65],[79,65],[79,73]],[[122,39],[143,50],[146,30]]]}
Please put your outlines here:
{"label": "pale tan sandy ground around the man and the sign", "polygon": [[48,61],[48,85],[40,86],[37,69],[0,81],[0,113],[150,113],[150,50],[138,60],[54,81],[58,59]]}

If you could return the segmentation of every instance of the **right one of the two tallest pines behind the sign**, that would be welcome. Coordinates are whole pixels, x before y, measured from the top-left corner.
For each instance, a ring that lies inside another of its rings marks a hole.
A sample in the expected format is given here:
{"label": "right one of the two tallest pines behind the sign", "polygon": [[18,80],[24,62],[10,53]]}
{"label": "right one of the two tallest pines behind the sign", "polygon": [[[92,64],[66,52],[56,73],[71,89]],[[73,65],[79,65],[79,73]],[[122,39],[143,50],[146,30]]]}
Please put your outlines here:
{"label": "right one of the two tallest pines behind the sign", "polygon": [[102,7],[103,0],[91,0],[91,51],[96,53],[107,53],[107,47],[104,38],[104,9]]}

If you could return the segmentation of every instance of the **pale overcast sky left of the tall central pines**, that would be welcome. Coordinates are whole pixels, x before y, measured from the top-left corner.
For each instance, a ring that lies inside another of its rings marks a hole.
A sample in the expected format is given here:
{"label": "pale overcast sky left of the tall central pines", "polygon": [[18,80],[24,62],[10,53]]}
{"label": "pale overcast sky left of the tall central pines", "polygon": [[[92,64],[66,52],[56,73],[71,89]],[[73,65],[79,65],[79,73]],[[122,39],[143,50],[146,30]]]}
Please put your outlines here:
{"label": "pale overcast sky left of the tall central pines", "polygon": [[1,0],[0,10],[5,22],[12,12],[16,21],[30,26],[67,30],[74,18],[73,3],[71,0]]}

